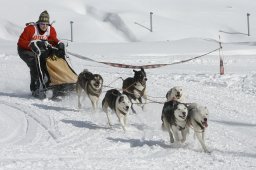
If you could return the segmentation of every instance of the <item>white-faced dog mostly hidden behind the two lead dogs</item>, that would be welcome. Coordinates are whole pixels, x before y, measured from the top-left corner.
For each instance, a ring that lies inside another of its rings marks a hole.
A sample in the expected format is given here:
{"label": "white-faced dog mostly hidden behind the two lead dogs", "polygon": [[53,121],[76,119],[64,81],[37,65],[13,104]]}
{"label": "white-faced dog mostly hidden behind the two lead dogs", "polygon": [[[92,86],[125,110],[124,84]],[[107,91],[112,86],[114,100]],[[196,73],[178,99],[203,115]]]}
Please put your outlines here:
{"label": "white-faced dog mostly hidden behind the two lead dogs", "polygon": [[185,102],[185,91],[181,86],[174,86],[166,94],[167,101]]}

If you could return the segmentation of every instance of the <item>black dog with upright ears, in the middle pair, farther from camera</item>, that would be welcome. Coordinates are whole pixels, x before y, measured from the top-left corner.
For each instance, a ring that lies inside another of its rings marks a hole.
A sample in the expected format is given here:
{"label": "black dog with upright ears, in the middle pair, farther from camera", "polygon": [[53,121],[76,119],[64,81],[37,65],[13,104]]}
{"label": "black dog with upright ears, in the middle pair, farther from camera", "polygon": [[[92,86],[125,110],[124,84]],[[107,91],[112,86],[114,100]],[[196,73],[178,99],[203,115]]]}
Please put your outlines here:
{"label": "black dog with upright ears, in the middle pair, farther from camera", "polygon": [[[133,70],[134,77],[128,77],[123,81],[123,93],[126,94],[130,100],[139,101],[142,104],[142,97],[146,100],[146,81],[147,76],[143,68],[140,71]],[[143,108],[143,106],[142,106]],[[133,113],[136,113],[133,107],[131,107]]]}

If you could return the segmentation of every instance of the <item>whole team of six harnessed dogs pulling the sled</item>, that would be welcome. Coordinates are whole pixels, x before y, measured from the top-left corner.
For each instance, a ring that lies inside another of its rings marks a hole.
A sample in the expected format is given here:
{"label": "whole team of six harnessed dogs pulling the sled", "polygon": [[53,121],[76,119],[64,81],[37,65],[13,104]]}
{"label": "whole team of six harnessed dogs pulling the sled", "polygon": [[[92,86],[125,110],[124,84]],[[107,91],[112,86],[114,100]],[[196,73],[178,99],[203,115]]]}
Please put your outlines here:
{"label": "whole team of six harnessed dogs pulling the sled", "polygon": [[[106,113],[109,126],[112,126],[109,110],[114,112],[126,131],[127,116],[133,108],[132,101],[138,102],[142,109],[147,103],[146,81],[147,76],[143,68],[133,70],[134,77],[123,80],[121,93],[117,89],[110,89],[102,100],[102,109]],[[93,74],[84,70],[78,76],[76,91],[78,95],[78,108],[81,108],[80,97],[82,92],[88,96],[95,110],[102,93],[103,78],[99,74]],[[144,103],[142,101],[144,98]],[[205,129],[208,127],[208,109],[197,103],[187,103],[186,93],[180,86],[171,88],[166,94],[167,101],[162,109],[162,129],[168,131],[171,143],[184,143],[192,128],[195,136],[205,152],[209,152],[204,142]]]}

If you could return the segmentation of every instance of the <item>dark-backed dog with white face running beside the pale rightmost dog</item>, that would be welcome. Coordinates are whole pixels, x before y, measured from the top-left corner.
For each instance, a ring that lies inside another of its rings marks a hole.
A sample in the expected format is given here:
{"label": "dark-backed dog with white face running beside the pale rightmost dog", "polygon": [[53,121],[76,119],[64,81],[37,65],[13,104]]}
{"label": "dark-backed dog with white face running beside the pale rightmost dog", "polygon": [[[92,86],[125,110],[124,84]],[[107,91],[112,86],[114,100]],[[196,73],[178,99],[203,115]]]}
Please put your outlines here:
{"label": "dark-backed dog with white face running beside the pale rightmost dog", "polygon": [[[167,130],[170,136],[170,142],[185,142],[186,128],[188,116],[188,108],[185,104],[177,101],[165,102],[162,110],[162,128]],[[180,139],[179,134],[181,133],[182,139]]]}

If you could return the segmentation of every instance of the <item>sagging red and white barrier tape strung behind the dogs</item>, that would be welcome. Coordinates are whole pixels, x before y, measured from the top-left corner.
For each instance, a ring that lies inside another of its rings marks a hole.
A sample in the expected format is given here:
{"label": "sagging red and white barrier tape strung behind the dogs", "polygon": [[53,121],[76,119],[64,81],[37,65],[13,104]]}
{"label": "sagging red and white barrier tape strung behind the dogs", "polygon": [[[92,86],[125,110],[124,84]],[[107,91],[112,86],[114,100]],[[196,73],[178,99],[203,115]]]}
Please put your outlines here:
{"label": "sagging red and white barrier tape strung behind the dogs", "polygon": [[150,65],[140,65],[140,66],[121,64],[121,63],[100,62],[100,61],[96,61],[96,60],[93,60],[93,59],[90,59],[88,57],[85,57],[85,56],[82,56],[82,55],[79,55],[79,54],[75,54],[75,53],[72,53],[72,52],[67,52],[67,53],[72,55],[72,56],[75,56],[77,58],[83,59],[83,60],[88,60],[88,61],[92,61],[92,62],[96,62],[96,63],[106,64],[106,65],[109,65],[109,66],[112,66],[112,67],[132,68],[132,69],[140,69],[140,68],[143,67],[144,69],[152,69],[152,68],[159,68],[159,67],[163,67],[163,66],[167,66],[167,65],[174,65],[174,64],[185,63],[185,62],[188,62],[188,61],[191,61],[191,60],[194,60],[194,59],[206,56],[208,54],[211,54],[211,53],[213,53],[215,51],[218,51],[220,49],[221,49],[221,47],[217,48],[215,50],[212,50],[212,51],[210,51],[208,53],[202,54],[200,56],[192,57],[192,58],[189,58],[187,60],[181,60],[181,61],[170,63],[170,64],[150,64]]}

